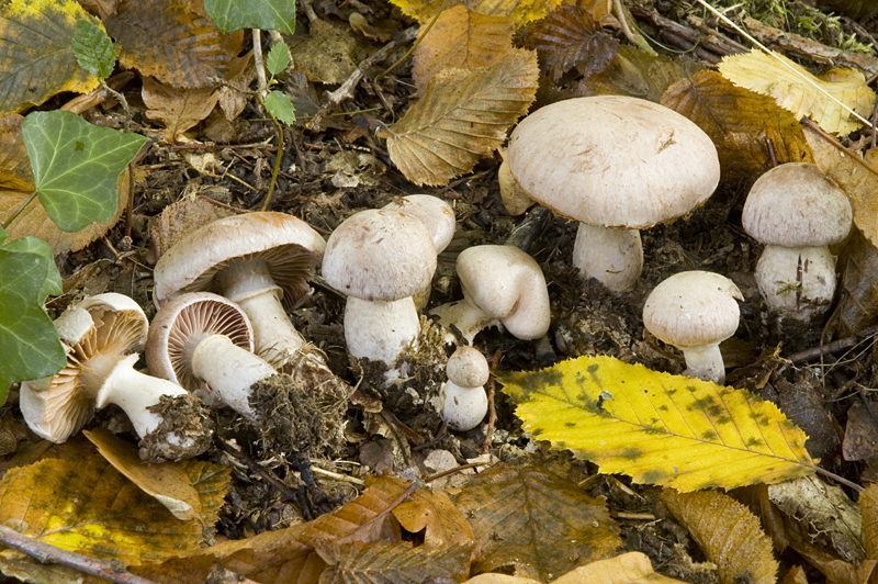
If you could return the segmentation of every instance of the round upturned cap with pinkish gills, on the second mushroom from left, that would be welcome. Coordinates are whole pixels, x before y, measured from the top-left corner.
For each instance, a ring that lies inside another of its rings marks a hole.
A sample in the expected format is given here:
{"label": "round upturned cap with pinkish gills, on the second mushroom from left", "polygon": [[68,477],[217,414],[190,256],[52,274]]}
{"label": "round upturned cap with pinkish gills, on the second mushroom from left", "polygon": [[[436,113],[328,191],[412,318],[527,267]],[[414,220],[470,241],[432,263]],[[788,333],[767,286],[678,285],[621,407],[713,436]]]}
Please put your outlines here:
{"label": "round upturned cap with pinkish gills, on the second mushroom from left", "polygon": [[225,335],[250,352],[254,332],[250,319],[230,300],[211,292],[189,292],[165,303],[153,318],[146,341],[149,372],[194,392],[211,389],[195,378],[190,362],[195,346],[207,336]]}

